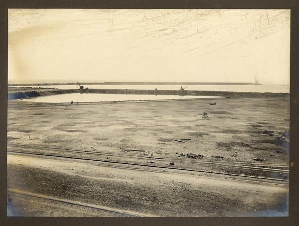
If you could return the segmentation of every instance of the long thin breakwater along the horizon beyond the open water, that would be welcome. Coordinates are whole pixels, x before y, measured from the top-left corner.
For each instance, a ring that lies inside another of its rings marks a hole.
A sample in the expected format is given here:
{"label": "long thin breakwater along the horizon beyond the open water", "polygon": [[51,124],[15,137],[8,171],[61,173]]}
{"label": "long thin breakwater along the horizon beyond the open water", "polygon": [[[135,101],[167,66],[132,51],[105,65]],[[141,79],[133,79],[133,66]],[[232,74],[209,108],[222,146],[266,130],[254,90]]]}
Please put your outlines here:
{"label": "long thin breakwater along the horizon beyond the open water", "polygon": [[[262,85],[260,83],[216,83],[216,82],[103,82],[81,83],[82,85]],[[60,86],[77,85],[77,83],[28,83],[8,84],[8,86]]]}

